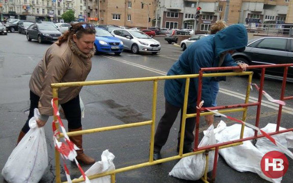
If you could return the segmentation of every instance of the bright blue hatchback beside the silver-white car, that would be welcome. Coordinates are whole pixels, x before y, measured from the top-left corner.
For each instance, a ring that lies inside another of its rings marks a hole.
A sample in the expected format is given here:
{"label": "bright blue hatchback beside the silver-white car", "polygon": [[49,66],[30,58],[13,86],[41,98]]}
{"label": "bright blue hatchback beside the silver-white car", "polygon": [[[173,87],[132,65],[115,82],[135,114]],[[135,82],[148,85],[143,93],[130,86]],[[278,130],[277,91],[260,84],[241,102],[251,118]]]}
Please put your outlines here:
{"label": "bright blue hatchback beside the silver-white car", "polygon": [[119,55],[123,49],[123,42],[115,38],[110,32],[102,28],[96,28],[95,54],[99,52],[115,53]]}

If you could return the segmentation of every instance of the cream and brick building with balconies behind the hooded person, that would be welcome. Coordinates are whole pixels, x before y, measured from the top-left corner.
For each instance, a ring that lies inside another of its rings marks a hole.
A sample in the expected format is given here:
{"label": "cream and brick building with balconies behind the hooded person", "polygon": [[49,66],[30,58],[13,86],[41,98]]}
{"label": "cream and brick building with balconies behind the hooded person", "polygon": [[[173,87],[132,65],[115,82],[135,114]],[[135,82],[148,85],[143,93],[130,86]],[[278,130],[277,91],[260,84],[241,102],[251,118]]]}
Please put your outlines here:
{"label": "cream and brick building with balconies behind the hooded person", "polygon": [[[197,8],[200,14],[197,16]],[[293,19],[289,0],[158,0],[157,25],[164,28],[189,28],[207,31],[217,20],[223,20],[229,7],[228,24],[284,24]],[[289,13],[291,12],[291,13]]]}

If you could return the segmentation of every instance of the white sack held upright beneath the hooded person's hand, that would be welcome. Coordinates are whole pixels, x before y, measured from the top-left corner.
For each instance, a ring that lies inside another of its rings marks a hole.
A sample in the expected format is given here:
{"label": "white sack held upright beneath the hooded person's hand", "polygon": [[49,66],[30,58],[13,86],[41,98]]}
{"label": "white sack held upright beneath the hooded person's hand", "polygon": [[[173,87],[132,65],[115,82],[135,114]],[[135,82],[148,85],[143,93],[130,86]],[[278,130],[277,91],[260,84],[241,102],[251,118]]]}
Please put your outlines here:
{"label": "white sack held upright beneath the hooded person's hand", "polygon": [[[210,125],[200,141],[198,147],[204,147],[216,143],[214,134],[214,125]],[[214,167],[215,151],[208,153],[208,171]],[[182,158],[171,170],[169,175],[185,179],[185,180],[198,180],[204,174],[205,169],[205,155],[198,154]]]}

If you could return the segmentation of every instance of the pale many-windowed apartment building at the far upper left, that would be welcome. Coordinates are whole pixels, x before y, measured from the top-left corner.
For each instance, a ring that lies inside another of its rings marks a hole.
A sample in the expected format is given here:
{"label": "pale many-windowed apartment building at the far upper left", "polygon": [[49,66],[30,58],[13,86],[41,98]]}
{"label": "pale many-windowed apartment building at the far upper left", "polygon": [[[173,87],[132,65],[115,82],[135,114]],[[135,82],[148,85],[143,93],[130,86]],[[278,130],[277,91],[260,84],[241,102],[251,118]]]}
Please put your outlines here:
{"label": "pale many-windowed apartment building at the far upper left", "polygon": [[83,0],[0,0],[1,17],[25,19],[35,16],[37,20],[58,21],[67,10],[74,10],[75,17],[83,14]]}

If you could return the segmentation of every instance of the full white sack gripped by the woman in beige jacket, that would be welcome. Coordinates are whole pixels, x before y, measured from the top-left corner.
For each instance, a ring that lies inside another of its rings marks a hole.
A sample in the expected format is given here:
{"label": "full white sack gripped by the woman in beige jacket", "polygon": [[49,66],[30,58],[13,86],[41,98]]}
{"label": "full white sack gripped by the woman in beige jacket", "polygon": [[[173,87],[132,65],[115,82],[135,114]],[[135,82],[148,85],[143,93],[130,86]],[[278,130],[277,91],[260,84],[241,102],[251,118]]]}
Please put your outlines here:
{"label": "full white sack gripped by the woman in beige jacket", "polygon": [[35,108],[34,117],[30,119],[30,130],[18,143],[9,156],[2,176],[8,182],[39,182],[47,166],[47,144],[44,128],[37,127],[36,119],[40,116]]}

